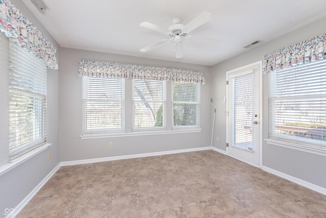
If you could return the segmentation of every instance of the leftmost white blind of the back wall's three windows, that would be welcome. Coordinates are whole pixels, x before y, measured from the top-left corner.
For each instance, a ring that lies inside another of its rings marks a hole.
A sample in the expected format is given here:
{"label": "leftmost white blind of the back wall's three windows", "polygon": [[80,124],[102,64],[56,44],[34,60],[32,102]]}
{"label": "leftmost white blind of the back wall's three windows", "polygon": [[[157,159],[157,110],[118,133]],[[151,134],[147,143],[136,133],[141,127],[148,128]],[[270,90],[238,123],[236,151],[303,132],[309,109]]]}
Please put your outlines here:
{"label": "leftmost white blind of the back wall's three windows", "polygon": [[124,131],[124,79],[83,77],[83,134]]}

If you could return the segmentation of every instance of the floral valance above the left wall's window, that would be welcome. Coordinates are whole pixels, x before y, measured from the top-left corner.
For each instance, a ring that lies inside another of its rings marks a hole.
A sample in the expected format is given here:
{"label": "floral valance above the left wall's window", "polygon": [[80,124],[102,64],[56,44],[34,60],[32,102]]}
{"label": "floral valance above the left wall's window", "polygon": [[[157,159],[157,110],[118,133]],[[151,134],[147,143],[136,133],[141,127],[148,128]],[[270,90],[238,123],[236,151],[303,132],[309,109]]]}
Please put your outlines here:
{"label": "floral valance above the left wall's window", "polygon": [[58,69],[56,47],[9,0],[0,0],[0,30],[43,59],[48,68]]}

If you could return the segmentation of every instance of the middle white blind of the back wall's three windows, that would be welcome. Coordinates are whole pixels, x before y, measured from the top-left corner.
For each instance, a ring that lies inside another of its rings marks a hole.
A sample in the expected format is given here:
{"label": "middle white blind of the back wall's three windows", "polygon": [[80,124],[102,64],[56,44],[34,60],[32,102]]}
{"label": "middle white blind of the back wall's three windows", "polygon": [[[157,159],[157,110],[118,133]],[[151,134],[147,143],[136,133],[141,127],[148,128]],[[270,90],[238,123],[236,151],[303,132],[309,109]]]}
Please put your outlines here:
{"label": "middle white blind of the back wall's three windows", "polygon": [[133,131],[166,129],[166,81],[133,80]]}

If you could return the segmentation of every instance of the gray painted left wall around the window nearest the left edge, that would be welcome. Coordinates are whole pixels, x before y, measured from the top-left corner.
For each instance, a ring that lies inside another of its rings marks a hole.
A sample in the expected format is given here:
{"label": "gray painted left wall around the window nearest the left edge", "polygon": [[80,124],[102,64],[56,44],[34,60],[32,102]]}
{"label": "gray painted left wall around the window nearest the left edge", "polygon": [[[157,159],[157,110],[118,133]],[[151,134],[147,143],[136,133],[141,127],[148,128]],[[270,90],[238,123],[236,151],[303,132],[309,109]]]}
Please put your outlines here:
{"label": "gray painted left wall around the window nearest the left edge", "polygon": [[[20,0],[11,0],[28,19],[57,47],[57,58],[60,67],[60,47],[55,40],[48,34],[45,28],[34,17],[28,8]],[[3,55],[0,54],[0,57]],[[3,61],[3,60],[2,60]],[[0,70],[0,78],[8,78],[8,62],[7,67]],[[60,146],[59,146],[59,71],[47,71],[47,114],[48,114],[48,142],[52,145],[34,156],[28,161],[11,169],[11,171],[0,176],[0,217],[3,215],[5,208],[15,208],[45,177],[53,168],[60,163]],[[7,79],[8,80],[8,79]],[[8,81],[7,81],[8,84]],[[3,83],[1,83],[3,89]],[[8,89],[8,85],[7,85]],[[6,110],[2,108],[1,110]],[[3,120],[1,121],[1,123]],[[7,133],[8,127],[0,126],[0,132]],[[1,141],[4,143],[4,141]],[[48,160],[48,153],[51,153],[51,159]],[[5,160],[2,160],[5,161]]]}

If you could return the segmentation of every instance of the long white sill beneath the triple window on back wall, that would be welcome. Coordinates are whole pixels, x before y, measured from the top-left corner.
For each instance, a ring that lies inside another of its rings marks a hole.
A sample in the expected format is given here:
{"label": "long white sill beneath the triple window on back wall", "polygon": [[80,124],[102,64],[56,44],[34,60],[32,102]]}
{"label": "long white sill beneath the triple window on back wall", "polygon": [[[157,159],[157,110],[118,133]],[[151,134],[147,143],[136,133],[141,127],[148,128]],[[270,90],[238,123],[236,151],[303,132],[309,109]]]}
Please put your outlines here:
{"label": "long white sill beneath the triple window on back wall", "polygon": [[81,139],[90,139],[90,138],[112,138],[112,137],[127,137],[127,136],[141,136],[141,135],[164,135],[164,134],[180,134],[180,133],[194,133],[201,132],[202,129],[180,129],[173,131],[139,131],[132,133],[105,133],[105,134],[85,134],[79,136]]}

